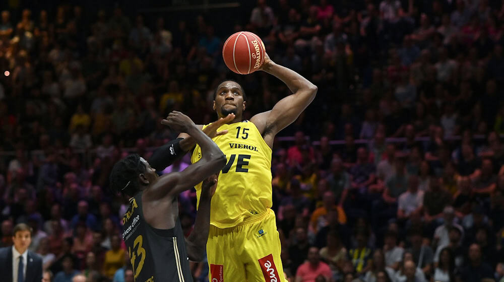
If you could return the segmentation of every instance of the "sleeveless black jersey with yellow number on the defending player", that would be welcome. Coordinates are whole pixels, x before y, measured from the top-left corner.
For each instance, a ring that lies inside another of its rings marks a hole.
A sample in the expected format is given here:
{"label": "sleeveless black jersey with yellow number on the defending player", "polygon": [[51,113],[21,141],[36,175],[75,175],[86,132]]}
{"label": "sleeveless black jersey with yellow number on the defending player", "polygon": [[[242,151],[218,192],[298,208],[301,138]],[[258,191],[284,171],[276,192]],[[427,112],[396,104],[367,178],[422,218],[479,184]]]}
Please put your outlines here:
{"label": "sleeveless black jersey with yellow number on the defending player", "polygon": [[136,282],[193,281],[180,219],[177,218],[172,229],[150,226],[142,212],[140,192],[130,199],[130,208],[122,223],[122,239],[130,255]]}

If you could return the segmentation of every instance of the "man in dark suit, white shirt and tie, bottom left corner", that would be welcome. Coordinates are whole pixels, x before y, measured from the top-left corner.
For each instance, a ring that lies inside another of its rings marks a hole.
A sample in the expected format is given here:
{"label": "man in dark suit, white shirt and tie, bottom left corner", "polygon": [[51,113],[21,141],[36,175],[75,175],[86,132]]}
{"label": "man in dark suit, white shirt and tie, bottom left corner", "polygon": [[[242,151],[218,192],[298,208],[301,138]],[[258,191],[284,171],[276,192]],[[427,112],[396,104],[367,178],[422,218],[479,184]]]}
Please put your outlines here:
{"label": "man in dark suit, white shirt and tie, bottom left corner", "polygon": [[[42,258],[28,250],[32,229],[20,223],[14,227],[14,246],[0,249],[0,277],[2,281],[42,281]],[[4,267],[5,266],[5,267]]]}

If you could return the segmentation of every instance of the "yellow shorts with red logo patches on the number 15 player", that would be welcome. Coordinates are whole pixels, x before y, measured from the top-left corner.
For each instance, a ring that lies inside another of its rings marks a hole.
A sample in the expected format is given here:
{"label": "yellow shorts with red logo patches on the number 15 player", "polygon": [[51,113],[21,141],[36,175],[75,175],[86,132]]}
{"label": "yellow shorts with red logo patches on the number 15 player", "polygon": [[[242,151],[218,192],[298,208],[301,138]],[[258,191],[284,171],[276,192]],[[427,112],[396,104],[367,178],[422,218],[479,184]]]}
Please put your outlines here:
{"label": "yellow shorts with red logo patches on the number 15 player", "polygon": [[267,209],[241,224],[210,225],[207,258],[210,282],[286,282],[275,213]]}

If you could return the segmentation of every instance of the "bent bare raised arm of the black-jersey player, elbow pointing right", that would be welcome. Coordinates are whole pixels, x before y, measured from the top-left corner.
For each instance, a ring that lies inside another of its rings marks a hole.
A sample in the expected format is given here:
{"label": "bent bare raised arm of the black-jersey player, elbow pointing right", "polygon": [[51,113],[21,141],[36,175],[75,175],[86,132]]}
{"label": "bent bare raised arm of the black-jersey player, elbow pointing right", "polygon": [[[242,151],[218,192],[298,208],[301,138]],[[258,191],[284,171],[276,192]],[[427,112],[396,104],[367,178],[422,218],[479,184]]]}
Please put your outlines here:
{"label": "bent bare raised arm of the black-jersey player, elbow pointing right", "polygon": [[157,199],[176,196],[202,182],[212,174],[219,172],[226,165],[226,156],[217,145],[186,115],[173,111],[164,124],[179,131],[189,133],[201,147],[202,158],[181,172],[173,172],[159,177],[153,183],[149,194]]}

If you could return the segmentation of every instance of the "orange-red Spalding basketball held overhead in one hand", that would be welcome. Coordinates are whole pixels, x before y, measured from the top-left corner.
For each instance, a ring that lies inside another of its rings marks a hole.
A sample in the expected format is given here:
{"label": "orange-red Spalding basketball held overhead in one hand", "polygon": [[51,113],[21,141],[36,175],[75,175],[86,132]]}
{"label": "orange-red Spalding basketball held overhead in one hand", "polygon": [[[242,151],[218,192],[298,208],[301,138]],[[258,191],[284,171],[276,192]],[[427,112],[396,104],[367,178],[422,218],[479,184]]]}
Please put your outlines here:
{"label": "orange-red Spalding basketball held overhead in one hand", "polygon": [[263,65],[264,53],[261,38],[248,31],[229,36],[222,47],[222,57],[227,67],[240,75],[248,75],[258,70]]}

